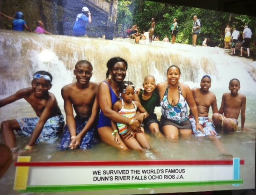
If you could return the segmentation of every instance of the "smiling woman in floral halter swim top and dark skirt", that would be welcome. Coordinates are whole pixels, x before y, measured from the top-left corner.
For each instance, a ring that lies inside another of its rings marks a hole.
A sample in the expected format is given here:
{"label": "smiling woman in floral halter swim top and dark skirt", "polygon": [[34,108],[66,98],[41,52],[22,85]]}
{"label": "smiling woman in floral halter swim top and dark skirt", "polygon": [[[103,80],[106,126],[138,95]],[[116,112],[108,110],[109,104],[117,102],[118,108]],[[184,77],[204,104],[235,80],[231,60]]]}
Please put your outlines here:
{"label": "smiling woman in floral halter swim top and dark skirt", "polygon": [[192,91],[190,87],[179,82],[180,76],[179,67],[172,65],[167,70],[167,81],[159,83],[156,88],[161,99],[161,129],[170,140],[177,140],[179,134],[191,135],[187,106],[196,120],[197,129],[203,129],[198,121],[197,105]]}

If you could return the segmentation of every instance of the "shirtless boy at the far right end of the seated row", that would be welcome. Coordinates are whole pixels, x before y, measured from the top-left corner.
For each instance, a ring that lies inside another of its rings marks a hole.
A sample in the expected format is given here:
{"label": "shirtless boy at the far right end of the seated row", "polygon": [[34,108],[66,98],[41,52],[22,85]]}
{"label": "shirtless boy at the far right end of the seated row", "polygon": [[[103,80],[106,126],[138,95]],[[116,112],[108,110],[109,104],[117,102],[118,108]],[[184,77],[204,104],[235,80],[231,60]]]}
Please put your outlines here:
{"label": "shirtless boy at the far right end of the seated row", "polygon": [[231,79],[228,88],[230,93],[222,95],[219,113],[213,114],[212,121],[216,127],[223,127],[224,132],[231,133],[237,129],[240,112],[241,129],[244,129],[246,97],[243,94],[238,94],[240,89],[238,79]]}

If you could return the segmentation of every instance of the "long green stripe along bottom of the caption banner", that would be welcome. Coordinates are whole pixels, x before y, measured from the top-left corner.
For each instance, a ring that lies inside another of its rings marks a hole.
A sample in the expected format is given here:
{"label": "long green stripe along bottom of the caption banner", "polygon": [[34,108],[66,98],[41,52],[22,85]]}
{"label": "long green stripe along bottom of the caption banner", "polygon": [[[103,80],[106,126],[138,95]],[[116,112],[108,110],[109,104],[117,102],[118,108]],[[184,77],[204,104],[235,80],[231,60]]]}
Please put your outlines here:
{"label": "long green stripe along bottom of the caption banner", "polygon": [[63,186],[27,186],[26,190],[19,192],[57,192],[57,191],[87,191],[87,190],[109,190],[109,189],[136,189],[136,188],[168,188],[168,187],[188,187],[188,186],[210,186],[242,184],[243,180],[224,181],[186,181],[168,183],[133,183],[133,184],[96,184],[96,185],[63,185]]}

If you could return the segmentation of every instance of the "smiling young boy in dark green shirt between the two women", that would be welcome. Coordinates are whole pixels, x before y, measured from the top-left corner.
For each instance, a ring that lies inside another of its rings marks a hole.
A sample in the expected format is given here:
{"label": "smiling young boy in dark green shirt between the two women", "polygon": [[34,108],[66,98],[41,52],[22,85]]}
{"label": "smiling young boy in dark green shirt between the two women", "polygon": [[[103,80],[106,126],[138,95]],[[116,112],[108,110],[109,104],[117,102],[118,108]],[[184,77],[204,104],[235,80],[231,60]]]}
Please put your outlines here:
{"label": "smiling young boy in dark green shirt between the two women", "polygon": [[150,132],[156,136],[161,136],[159,130],[159,121],[154,113],[154,108],[156,106],[160,106],[159,95],[154,92],[155,87],[156,84],[154,76],[146,76],[143,81],[144,90],[139,92],[139,100],[149,116],[143,121],[141,128],[144,130],[150,130]]}

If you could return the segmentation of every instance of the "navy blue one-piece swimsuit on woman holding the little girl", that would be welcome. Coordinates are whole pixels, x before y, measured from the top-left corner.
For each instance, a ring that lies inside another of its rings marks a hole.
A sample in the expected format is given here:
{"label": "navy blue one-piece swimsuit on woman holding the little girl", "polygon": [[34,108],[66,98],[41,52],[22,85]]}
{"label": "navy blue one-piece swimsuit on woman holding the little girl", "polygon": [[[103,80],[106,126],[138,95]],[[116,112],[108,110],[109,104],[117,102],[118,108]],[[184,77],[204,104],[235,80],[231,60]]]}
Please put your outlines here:
{"label": "navy blue one-piece swimsuit on woman holding the little girl", "polygon": [[[112,105],[114,105],[118,101],[118,97],[115,94],[115,92],[113,91],[113,89],[110,87],[110,84],[107,81],[103,81],[103,82],[107,83],[110,88],[111,102],[112,102]],[[111,127],[111,119],[108,118],[107,116],[105,116],[101,110],[99,120],[98,120],[97,129],[99,129],[101,127],[106,127],[106,126]]]}

